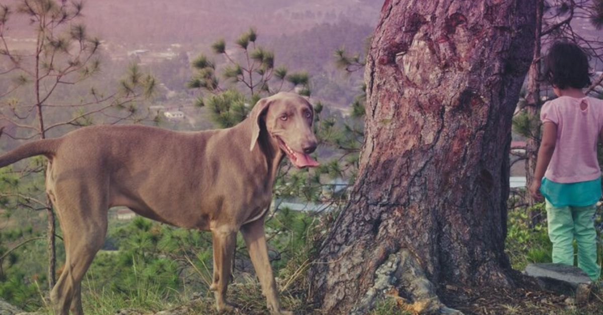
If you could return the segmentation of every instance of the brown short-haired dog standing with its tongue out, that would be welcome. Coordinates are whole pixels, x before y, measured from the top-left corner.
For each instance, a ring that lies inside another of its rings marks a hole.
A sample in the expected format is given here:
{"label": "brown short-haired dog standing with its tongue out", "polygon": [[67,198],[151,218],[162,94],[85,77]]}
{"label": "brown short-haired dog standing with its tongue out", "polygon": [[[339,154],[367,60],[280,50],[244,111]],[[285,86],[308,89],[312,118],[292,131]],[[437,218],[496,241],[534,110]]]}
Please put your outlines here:
{"label": "brown short-haired dog standing with its tongue out", "polygon": [[232,310],[226,288],[242,232],[273,314],[281,310],[268,260],[264,215],[280,161],[318,163],[314,111],[294,93],[261,99],[250,117],[228,129],[181,133],[148,126],[91,126],[57,139],[27,143],[0,157],[0,167],[45,155],[46,192],[65,240],[65,270],[52,288],[56,314],[83,314],[80,282],[107,231],[107,210],[212,231],[218,310]]}

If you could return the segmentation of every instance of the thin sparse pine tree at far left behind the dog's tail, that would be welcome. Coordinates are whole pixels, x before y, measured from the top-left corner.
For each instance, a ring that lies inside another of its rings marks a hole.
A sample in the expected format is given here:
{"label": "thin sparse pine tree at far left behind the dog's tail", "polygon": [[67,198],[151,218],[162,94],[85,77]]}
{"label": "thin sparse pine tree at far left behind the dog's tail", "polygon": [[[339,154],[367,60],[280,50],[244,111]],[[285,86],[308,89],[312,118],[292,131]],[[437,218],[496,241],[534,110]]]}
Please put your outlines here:
{"label": "thin sparse pine tree at far left behind the dog's tail", "polygon": [[[49,134],[58,136],[74,127],[94,122],[140,119],[136,102],[150,96],[156,82],[135,65],[128,69],[115,92],[105,94],[92,87],[88,95],[71,103],[59,97],[68,95],[72,87],[84,83],[101,69],[101,40],[89,36],[86,26],[81,23],[83,8],[82,2],[54,0],[19,0],[11,6],[0,5],[0,73],[13,76],[11,84],[0,91],[0,121],[11,129],[4,131],[5,136],[20,141],[45,139]],[[7,40],[13,14],[30,20],[36,40],[35,47],[26,54],[11,49]],[[21,174],[37,176],[33,182],[42,186],[43,178],[39,175],[45,170],[45,160],[39,161],[39,165],[26,167]],[[43,190],[38,188],[37,193],[43,195]],[[52,287],[55,281],[56,231],[51,203],[45,196],[22,194],[19,185],[8,192],[3,190],[0,196],[16,198],[20,207],[46,210],[48,284]]]}

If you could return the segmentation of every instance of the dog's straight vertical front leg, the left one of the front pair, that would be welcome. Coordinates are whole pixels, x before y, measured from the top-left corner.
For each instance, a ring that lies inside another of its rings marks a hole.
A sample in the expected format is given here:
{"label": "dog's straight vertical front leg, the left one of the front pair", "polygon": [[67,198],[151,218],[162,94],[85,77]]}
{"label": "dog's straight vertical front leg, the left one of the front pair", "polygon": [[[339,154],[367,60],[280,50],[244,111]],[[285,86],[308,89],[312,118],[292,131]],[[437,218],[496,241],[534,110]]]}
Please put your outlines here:
{"label": "dog's straight vertical front leg, the left one of the front pair", "polygon": [[218,311],[233,311],[234,307],[226,301],[226,289],[230,280],[230,267],[236,246],[236,229],[221,226],[212,229],[213,236],[213,284],[216,308]]}

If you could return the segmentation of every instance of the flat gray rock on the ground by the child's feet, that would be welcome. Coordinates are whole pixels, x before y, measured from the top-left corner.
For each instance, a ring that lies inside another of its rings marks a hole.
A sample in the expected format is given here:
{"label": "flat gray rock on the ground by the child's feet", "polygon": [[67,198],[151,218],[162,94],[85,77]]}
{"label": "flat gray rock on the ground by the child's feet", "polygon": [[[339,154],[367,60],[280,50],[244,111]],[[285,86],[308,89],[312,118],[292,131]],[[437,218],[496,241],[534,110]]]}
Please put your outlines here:
{"label": "flat gray rock on the ground by the child's feet", "polygon": [[576,302],[589,301],[592,281],[578,267],[566,264],[538,263],[529,264],[524,273],[533,276],[545,290],[564,295],[575,295]]}

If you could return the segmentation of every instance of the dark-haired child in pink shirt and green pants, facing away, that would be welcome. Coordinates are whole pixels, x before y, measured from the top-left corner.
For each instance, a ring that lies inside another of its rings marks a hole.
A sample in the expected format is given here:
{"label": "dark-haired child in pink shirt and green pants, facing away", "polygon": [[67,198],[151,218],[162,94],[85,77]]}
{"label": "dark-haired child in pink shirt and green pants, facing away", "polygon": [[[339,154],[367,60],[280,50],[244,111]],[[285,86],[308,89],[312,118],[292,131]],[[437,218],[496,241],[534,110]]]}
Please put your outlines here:
{"label": "dark-haired child in pink shirt and green pants, facing away", "polygon": [[546,199],[553,263],[573,266],[573,239],[578,267],[599,279],[593,215],[601,198],[597,142],[603,139],[603,101],[584,95],[589,86],[589,61],[573,43],[557,42],[545,58],[545,80],[557,99],[542,106],[542,142],[534,181],[536,200]]}

